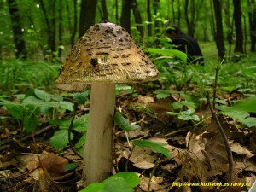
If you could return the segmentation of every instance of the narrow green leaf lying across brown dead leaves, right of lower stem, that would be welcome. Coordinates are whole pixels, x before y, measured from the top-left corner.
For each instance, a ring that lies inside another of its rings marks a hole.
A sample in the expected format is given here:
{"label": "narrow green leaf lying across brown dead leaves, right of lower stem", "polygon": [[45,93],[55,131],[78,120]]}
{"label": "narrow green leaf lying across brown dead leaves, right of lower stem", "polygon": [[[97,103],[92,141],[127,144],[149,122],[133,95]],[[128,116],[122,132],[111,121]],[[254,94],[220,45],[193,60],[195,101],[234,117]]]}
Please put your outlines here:
{"label": "narrow green leaf lying across brown dead leaves, right of lower stem", "polygon": [[169,150],[163,147],[164,145],[166,145],[166,143],[157,143],[149,140],[140,139],[140,140],[134,140],[133,144],[141,148],[145,148],[145,147],[152,148],[156,152],[160,154],[164,154],[168,159],[171,158]]}

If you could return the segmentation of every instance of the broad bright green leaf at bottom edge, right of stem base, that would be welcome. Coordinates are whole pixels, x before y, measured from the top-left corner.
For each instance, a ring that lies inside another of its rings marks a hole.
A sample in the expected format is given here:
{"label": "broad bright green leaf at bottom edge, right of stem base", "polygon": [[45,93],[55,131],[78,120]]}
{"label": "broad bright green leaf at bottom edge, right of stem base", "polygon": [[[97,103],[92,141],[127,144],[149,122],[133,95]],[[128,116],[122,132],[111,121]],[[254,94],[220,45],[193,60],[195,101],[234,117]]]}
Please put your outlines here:
{"label": "broad bright green leaf at bottom edge, right of stem base", "polygon": [[108,177],[102,192],[134,192],[123,177]]}

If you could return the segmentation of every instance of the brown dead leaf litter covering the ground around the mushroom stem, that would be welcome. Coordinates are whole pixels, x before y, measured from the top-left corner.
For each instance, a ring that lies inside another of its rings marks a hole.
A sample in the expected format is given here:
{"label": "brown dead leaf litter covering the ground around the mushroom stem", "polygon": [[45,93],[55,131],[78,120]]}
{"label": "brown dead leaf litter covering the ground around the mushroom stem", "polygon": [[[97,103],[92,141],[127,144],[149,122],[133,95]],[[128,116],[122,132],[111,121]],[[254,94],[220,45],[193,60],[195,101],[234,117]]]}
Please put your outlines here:
{"label": "brown dead leaf litter covering the ground around the mushroom stem", "polygon": [[[202,50],[209,55],[206,60],[212,65],[212,56],[216,53],[212,53],[208,44],[204,44]],[[255,57],[250,61],[253,62]],[[249,70],[247,73],[252,75]],[[234,74],[238,73],[232,73],[229,78]],[[255,74],[252,77],[255,78]],[[220,80],[223,79],[221,76]],[[225,80],[230,83],[234,79]],[[198,89],[198,86],[188,86],[191,95]],[[175,92],[177,89],[173,84],[166,88],[170,95],[163,98],[156,98],[155,90],[142,85],[136,88],[137,96],[122,92],[117,96],[116,111],[122,112],[126,119],[140,125],[141,129],[129,132],[128,141],[125,131],[115,126],[114,172],[135,172],[140,177],[140,184],[135,189],[137,192],[249,191],[256,180],[255,126],[248,128],[237,119],[218,114],[233,155],[233,179],[230,182],[227,149],[207,101],[203,100],[201,107],[195,109],[195,115],[204,117],[203,121],[195,123],[166,113],[175,111],[172,108],[174,102],[183,102],[184,108],[191,105]],[[253,91],[255,96],[255,89]],[[237,89],[218,92],[218,102],[230,104],[243,98],[244,93]],[[80,117],[88,112],[89,104],[86,102],[79,105],[76,114]],[[30,134],[26,131],[21,134],[20,121],[14,119],[7,108],[0,108],[0,116],[4,117],[0,119],[0,192],[79,191],[77,183],[81,179],[83,161],[74,154],[70,145],[63,150],[50,145],[50,138],[59,130],[56,125],[49,124],[44,115],[40,115],[38,129]],[[251,116],[255,117],[255,113]],[[71,117],[72,113],[66,112],[57,119]],[[74,131],[73,144],[79,137],[81,133]],[[165,143],[171,158],[152,148],[133,148],[131,141],[135,139]]]}

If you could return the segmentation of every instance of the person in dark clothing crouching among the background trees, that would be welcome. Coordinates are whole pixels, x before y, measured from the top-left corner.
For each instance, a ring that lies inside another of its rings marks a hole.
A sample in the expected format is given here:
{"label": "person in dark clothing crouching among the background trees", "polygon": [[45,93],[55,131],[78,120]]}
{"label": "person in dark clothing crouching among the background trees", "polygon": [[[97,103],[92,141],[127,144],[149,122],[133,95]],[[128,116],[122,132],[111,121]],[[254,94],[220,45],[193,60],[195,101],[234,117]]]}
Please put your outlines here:
{"label": "person in dark clothing crouching among the background trees", "polygon": [[194,38],[184,34],[177,25],[171,25],[166,30],[166,33],[167,36],[172,39],[171,44],[177,45],[176,49],[188,55],[188,63],[204,65],[201,49]]}

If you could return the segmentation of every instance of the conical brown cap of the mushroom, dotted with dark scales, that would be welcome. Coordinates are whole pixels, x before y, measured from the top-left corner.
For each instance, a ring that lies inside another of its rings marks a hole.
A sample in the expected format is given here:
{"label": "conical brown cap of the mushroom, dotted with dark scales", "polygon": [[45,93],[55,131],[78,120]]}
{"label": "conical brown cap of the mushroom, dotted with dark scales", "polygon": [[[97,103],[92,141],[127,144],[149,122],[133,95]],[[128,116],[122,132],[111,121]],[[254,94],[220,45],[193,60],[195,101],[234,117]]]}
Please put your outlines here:
{"label": "conical brown cap of the mushroom, dotted with dark scales", "polygon": [[85,84],[146,82],[158,79],[158,74],[129,33],[105,21],[91,26],[75,44],[55,86],[81,91]]}

